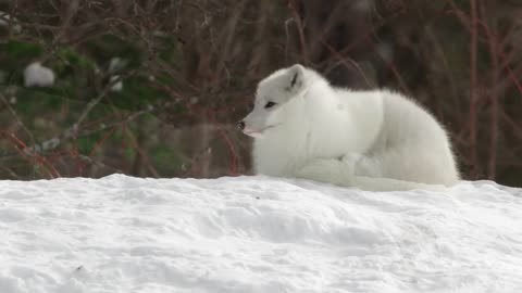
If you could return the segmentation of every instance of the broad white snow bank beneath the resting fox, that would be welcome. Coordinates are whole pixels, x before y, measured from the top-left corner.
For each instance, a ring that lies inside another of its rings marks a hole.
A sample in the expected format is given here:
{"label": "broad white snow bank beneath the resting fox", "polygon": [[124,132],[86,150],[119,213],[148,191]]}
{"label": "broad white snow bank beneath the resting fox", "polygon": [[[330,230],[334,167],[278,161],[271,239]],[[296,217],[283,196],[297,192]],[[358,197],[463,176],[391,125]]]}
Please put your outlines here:
{"label": "broad white snow bank beneath the resting fox", "polygon": [[522,190],[0,181],[0,292],[522,292]]}

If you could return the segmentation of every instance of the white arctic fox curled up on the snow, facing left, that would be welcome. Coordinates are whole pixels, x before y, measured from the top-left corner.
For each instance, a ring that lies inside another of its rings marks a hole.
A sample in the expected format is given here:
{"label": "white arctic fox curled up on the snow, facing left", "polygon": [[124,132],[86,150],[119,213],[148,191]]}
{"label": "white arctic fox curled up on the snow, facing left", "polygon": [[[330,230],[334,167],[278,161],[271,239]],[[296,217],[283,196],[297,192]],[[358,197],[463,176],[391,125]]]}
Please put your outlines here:
{"label": "white arctic fox curled up on the snow, facing left", "polygon": [[448,136],[424,109],[388,90],[333,87],[299,64],[259,82],[238,127],[254,137],[257,174],[373,191],[459,180]]}

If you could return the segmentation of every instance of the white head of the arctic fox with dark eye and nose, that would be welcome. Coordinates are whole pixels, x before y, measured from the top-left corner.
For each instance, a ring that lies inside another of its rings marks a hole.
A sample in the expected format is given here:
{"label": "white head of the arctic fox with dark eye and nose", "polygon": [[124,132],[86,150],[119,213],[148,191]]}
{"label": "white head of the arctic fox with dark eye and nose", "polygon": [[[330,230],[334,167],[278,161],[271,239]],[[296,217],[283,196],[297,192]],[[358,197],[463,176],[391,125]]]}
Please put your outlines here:
{"label": "white head of the arctic fox with dark eye and nose", "polygon": [[256,92],[252,112],[238,123],[239,129],[251,137],[263,135],[284,126],[288,117],[295,116],[295,106],[289,106],[306,93],[307,69],[296,64],[279,69],[261,80]]}

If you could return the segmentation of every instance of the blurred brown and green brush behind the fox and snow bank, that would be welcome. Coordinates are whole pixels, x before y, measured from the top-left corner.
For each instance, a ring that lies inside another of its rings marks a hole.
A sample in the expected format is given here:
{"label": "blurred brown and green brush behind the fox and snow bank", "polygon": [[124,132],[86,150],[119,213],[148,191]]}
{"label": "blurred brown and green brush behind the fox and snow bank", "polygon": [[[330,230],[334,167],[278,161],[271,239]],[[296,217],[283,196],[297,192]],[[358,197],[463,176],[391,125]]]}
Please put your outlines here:
{"label": "blurred brown and green brush behind the fox and snow bank", "polygon": [[[518,0],[0,0],[0,178],[250,174],[235,122],[302,63],[412,97],[464,178],[520,187],[521,16]],[[35,62],[51,86],[24,85]]]}

